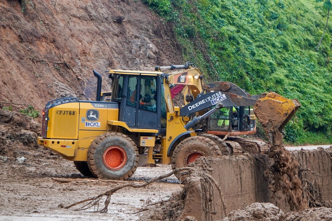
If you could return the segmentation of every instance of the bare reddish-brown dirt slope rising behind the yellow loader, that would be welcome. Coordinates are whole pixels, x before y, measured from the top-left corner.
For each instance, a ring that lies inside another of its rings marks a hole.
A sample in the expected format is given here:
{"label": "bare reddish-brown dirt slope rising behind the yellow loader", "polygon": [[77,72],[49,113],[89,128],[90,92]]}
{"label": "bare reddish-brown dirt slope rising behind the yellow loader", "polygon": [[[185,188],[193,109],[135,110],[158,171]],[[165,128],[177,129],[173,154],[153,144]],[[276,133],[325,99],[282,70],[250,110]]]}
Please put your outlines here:
{"label": "bare reddish-brown dirt slope rising behind the yellow loader", "polygon": [[95,99],[92,69],[109,91],[108,67],[152,70],[181,60],[171,28],[141,1],[0,0],[0,15],[0,102],[41,110],[57,97]]}

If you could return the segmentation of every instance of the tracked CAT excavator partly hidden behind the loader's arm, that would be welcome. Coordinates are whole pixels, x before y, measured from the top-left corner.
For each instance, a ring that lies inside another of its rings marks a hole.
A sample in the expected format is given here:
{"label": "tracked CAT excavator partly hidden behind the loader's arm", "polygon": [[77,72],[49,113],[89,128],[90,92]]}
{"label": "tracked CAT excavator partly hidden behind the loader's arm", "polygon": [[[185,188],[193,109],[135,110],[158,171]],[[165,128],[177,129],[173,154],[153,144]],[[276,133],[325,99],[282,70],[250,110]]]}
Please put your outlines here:
{"label": "tracked CAT excavator partly hidden behind the loader's arm", "polygon": [[[190,62],[189,62],[190,63]],[[190,64],[195,67],[194,64]],[[172,67],[156,67],[156,71],[161,69],[170,69]],[[180,71],[181,72],[181,71]],[[165,72],[164,72],[165,73]],[[167,73],[167,72],[166,72]],[[188,104],[197,98],[196,91],[201,91],[203,88],[204,78],[201,73],[195,75],[200,81],[195,81],[198,85],[188,85],[188,82],[177,81],[170,85],[171,97],[175,98],[173,103],[177,104]],[[215,87],[220,82],[210,83],[208,87]],[[230,83],[224,83],[225,85]],[[207,85],[205,85],[207,87]],[[200,89],[199,89],[200,88]],[[208,88],[206,88],[208,89]],[[213,92],[213,89],[210,90]],[[248,94],[248,93],[246,93]],[[180,96],[179,96],[180,95]],[[176,105],[176,104],[174,104]],[[232,111],[230,111],[232,110]],[[198,124],[196,129],[200,136],[216,135],[225,140],[225,144],[229,148],[230,154],[239,154],[242,152],[249,152],[252,154],[259,153],[268,150],[268,144],[261,140],[253,140],[248,138],[239,137],[240,135],[255,135],[256,134],[256,121],[257,117],[250,106],[237,106],[228,107],[224,111],[219,111],[211,114],[205,121]],[[209,135],[207,135],[209,134]],[[235,150],[234,153],[234,149]],[[241,150],[241,151],[239,151]]]}

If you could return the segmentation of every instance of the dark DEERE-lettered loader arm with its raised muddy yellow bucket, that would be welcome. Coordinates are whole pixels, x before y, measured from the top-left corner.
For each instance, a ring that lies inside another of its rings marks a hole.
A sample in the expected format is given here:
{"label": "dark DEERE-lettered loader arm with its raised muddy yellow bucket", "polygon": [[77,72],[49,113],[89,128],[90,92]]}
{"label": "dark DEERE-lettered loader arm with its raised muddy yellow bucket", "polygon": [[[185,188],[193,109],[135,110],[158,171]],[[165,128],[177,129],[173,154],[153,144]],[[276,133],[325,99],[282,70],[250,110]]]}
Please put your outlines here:
{"label": "dark DEERE-lettered loader arm with its raised muddy yellow bucket", "polygon": [[[243,90],[242,92],[244,93]],[[193,102],[190,102],[186,106],[182,107],[180,109],[180,116],[190,115],[215,105],[217,108],[230,106],[254,106],[254,113],[256,114],[258,121],[262,124],[265,132],[272,139],[272,134],[276,131],[281,131],[300,107],[298,100],[287,99],[275,92],[263,93],[254,96],[243,94],[242,92],[240,92],[240,94],[244,96],[220,91],[206,93]],[[209,111],[200,117],[194,118],[193,122],[186,125],[186,129],[188,130],[189,127],[193,127],[195,125],[194,122],[198,123],[212,113],[213,111]]]}

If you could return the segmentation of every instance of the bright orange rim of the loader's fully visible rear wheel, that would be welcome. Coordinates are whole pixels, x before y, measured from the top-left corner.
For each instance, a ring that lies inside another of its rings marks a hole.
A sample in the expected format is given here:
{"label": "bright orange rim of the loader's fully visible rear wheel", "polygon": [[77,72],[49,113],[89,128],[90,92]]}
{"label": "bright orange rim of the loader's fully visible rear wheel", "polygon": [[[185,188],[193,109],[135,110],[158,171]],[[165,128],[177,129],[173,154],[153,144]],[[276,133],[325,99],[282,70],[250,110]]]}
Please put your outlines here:
{"label": "bright orange rim of the loader's fully visible rear wheel", "polygon": [[127,154],[120,146],[110,146],[103,154],[103,162],[110,170],[120,170],[127,162]]}

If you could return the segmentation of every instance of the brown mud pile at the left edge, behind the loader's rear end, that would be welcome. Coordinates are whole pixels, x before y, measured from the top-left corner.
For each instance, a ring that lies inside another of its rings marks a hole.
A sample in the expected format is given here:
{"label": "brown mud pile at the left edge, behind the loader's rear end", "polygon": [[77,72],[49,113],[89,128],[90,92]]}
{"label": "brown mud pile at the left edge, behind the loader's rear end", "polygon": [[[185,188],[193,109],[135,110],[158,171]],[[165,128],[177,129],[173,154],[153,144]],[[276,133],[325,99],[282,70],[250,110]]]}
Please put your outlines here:
{"label": "brown mud pile at the left edge, behind the loader's rear end", "polygon": [[[15,161],[27,158],[40,149],[37,134],[41,125],[31,117],[15,112],[0,110],[0,161]],[[21,161],[23,163],[24,159]]]}

